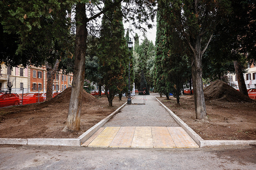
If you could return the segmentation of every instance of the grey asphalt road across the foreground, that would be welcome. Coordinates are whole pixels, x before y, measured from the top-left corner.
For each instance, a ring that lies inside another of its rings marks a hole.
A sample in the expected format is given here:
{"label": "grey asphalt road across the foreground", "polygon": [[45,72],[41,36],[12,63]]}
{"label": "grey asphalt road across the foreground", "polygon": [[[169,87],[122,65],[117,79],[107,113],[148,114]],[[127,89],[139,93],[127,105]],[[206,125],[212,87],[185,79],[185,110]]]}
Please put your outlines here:
{"label": "grey asphalt road across the foreground", "polygon": [[1,170],[255,170],[256,146],[111,149],[0,145]]}

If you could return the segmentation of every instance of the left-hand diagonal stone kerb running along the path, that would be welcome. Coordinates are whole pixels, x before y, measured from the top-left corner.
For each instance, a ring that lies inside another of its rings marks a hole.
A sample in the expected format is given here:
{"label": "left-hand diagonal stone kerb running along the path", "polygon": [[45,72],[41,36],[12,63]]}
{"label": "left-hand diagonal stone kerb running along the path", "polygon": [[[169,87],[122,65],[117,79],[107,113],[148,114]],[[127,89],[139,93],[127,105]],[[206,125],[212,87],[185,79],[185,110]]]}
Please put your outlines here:
{"label": "left-hand diagonal stone kerb running along the path", "polygon": [[80,141],[80,146],[89,139],[97,130],[99,130],[109,119],[111,119],[115,114],[117,114],[125,105],[121,105],[118,109],[116,109],[114,112],[112,112],[109,116],[102,119],[99,123],[95,124],[92,128],[88,129],[85,133],[81,134],[81,136],[78,137],[78,140]]}

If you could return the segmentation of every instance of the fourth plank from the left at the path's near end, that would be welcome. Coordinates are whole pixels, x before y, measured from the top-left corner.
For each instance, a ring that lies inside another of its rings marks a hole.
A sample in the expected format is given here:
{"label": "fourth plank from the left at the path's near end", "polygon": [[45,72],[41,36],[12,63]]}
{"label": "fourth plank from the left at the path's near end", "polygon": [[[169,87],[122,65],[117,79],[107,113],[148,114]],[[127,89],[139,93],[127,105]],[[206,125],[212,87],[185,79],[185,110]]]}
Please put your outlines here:
{"label": "fourth plank from the left at the path's near end", "polygon": [[131,143],[132,148],[153,148],[151,127],[136,127],[133,141]]}

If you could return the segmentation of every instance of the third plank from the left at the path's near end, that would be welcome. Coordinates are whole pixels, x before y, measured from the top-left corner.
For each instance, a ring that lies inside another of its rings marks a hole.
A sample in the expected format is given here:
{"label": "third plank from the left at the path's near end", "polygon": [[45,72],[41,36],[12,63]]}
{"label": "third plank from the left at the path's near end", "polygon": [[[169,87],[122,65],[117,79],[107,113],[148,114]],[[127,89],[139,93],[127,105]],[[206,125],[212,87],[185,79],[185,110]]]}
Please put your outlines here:
{"label": "third plank from the left at the path's near end", "polygon": [[112,148],[130,148],[133,139],[135,127],[121,127],[115,138],[109,145]]}

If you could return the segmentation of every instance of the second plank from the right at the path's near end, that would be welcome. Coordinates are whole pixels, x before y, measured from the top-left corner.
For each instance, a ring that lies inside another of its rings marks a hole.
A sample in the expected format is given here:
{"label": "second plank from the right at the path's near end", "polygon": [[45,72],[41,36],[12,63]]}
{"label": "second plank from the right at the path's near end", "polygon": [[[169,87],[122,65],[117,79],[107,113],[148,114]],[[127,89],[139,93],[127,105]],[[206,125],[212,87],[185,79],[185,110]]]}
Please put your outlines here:
{"label": "second plank from the right at the path's near end", "polygon": [[151,127],[154,148],[175,148],[176,145],[166,127]]}

